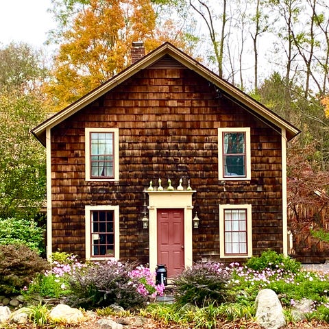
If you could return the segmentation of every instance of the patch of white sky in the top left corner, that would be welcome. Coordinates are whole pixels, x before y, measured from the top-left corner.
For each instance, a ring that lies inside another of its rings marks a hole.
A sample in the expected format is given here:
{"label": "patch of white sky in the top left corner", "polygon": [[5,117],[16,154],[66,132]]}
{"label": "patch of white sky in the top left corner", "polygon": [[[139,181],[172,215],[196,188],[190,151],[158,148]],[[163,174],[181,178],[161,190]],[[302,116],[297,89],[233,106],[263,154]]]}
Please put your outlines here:
{"label": "patch of white sky in the top left corner", "polygon": [[55,22],[51,0],[0,0],[0,47],[11,41],[42,47]]}

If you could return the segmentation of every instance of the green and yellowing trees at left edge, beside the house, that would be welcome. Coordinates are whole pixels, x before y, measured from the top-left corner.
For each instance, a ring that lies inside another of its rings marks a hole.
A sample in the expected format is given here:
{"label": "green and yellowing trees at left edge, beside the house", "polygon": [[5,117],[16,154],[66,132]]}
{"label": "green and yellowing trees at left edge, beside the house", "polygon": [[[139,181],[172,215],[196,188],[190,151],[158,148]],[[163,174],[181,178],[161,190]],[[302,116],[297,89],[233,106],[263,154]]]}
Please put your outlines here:
{"label": "green and yellowing trees at left edge, beside the house", "polygon": [[34,219],[45,199],[45,151],[30,134],[45,119],[40,56],[25,44],[0,49],[0,218]]}

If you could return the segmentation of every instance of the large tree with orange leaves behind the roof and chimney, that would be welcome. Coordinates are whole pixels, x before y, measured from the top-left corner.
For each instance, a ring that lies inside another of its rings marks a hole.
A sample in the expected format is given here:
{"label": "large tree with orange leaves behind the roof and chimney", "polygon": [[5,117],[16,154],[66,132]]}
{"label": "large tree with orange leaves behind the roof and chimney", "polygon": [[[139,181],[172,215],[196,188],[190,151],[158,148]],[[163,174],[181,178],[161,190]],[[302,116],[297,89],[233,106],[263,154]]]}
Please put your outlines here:
{"label": "large tree with orange leaves behind the roof and chimney", "polygon": [[[55,4],[59,3],[57,0]],[[130,65],[133,41],[143,40],[146,52],[164,40],[186,50],[184,35],[175,31],[174,25],[167,22],[165,31],[160,33],[150,0],[72,0],[69,3],[72,19],[70,22],[67,19],[70,15],[67,8],[65,19],[61,16],[65,28],[59,30],[60,49],[52,79],[45,85],[49,108],[54,111]]]}

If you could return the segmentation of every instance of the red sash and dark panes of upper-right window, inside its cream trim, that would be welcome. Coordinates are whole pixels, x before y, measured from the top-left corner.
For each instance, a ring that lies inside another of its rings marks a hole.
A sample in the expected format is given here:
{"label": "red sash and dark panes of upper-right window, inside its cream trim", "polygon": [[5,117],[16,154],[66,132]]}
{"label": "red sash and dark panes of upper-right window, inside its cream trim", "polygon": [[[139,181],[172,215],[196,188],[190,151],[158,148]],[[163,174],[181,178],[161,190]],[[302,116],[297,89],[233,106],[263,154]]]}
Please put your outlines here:
{"label": "red sash and dark panes of upper-right window, inside its cream trim", "polygon": [[245,132],[223,132],[223,173],[245,177]]}

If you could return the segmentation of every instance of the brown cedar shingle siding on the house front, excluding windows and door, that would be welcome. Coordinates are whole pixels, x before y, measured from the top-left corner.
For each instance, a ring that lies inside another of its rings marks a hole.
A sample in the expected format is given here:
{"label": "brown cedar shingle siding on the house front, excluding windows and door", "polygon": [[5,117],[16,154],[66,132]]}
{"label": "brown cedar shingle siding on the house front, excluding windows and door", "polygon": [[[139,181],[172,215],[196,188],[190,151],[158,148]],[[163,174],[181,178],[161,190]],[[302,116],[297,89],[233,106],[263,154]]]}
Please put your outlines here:
{"label": "brown cedar shingle siding on the house front, excluding windows and door", "polygon": [[[121,259],[148,263],[143,190],[158,178],[197,191],[193,260],[219,260],[219,204],[252,204],[253,254],[282,252],[281,136],[258,117],[165,57],[62,121],[51,129],[53,252],[84,258],[85,205],[119,205]],[[119,128],[119,182],[86,182],[85,127]],[[250,181],[219,181],[218,127],[251,128]]]}

